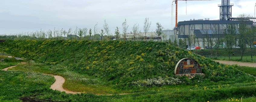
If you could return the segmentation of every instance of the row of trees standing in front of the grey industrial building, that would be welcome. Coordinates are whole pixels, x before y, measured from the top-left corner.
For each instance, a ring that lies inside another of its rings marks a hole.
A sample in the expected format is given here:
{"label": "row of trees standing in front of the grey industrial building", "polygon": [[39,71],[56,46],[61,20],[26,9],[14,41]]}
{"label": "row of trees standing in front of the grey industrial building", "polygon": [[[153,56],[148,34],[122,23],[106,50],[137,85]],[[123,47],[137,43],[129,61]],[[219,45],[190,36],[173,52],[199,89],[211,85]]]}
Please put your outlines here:
{"label": "row of trees standing in front of the grey industrial building", "polygon": [[[241,14],[239,18],[251,17],[250,15]],[[247,48],[251,51],[251,60],[252,60],[252,48],[254,46],[254,41],[256,41],[256,27],[255,25],[248,25],[247,21],[253,19],[243,19],[240,21],[240,24],[228,24],[223,26],[221,24],[212,24],[212,25],[203,25],[200,29],[203,33],[203,47],[210,47],[211,55],[213,55],[213,50],[216,50],[215,55],[221,46],[226,45],[226,49],[229,52],[229,59],[232,49],[237,46],[241,50],[241,60],[245,54]],[[188,45],[197,44],[200,46],[199,38],[194,34],[188,35]],[[180,42],[180,45],[184,46],[184,42]]]}

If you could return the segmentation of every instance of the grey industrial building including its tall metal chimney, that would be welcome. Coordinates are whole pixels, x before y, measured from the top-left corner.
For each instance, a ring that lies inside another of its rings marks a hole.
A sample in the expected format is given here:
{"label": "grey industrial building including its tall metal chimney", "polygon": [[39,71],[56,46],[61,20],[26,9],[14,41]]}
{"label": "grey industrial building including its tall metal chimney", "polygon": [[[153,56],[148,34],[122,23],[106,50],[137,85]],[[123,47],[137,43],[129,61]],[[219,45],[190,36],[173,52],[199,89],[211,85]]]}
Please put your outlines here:
{"label": "grey industrial building including its tall metal chimney", "polygon": [[[184,40],[187,46],[200,46],[204,48],[206,35],[211,38],[224,35],[224,30],[228,26],[233,25],[235,29],[239,29],[241,21],[245,22],[248,27],[253,26],[253,21],[250,19],[256,19],[253,17],[238,18],[232,17],[232,6],[230,0],[222,0],[222,3],[218,5],[220,7],[219,19],[210,20],[206,19],[190,19],[189,21],[178,22],[176,32],[178,35],[178,41]],[[218,31],[218,32],[216,32]],[[194,36],[193,41],[189,45],[188,38]]]}

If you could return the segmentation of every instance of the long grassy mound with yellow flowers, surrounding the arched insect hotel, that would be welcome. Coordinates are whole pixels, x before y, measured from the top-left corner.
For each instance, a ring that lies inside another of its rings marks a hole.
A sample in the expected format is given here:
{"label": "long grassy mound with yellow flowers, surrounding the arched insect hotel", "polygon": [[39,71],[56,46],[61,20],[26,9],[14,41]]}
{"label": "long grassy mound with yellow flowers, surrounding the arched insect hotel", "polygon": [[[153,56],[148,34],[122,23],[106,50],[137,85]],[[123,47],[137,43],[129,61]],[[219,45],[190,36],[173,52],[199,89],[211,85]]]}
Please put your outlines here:
{"label": "long grassy mound with yellow flowers, surrounding the arched insect hotel", "polygon": [[[65,66],[65,70],[96,77],[106,84],[117,84],[117,87],[122,88],[254,81],[253,76],[234,67],[159,42],[8,40],[1,43],[0,48],[17,57]],[[205,76],[196,76],[191,80],[174,76],[175,65],[182,58],[198,61]]]}

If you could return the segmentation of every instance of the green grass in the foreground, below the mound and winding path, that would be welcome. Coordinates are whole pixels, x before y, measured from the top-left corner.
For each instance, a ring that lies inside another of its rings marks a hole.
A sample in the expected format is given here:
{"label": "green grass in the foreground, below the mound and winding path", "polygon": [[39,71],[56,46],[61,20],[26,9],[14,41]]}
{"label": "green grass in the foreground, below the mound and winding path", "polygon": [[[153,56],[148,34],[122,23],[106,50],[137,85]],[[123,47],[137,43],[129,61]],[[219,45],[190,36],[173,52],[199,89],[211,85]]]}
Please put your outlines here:
{"label": "green grass in the foreground, below the mound and winding path", "polygon": [[52,76],[34,72],[0,71],[0,101],[218,101],[256,95],[254,83],[206,86],[162,86],[128,95],[72,95],[50,89]]}

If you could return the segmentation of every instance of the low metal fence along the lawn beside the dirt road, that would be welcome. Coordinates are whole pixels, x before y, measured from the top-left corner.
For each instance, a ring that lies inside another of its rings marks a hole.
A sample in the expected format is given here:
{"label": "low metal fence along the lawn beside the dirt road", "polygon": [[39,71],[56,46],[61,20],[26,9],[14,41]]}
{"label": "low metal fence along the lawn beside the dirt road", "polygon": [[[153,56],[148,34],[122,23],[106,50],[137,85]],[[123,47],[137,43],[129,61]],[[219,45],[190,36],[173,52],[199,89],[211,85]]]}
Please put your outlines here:
{"label": "low metal fence along the lawn beside the dirt road", "polygon": [[[212,56],[212,55],[202,55],[202,56],[207,57],[207,58],[220,59],[220,60],[229,60],[229,56]],[[231,61],[251,61],[251,59],[252,59],[253,62],[256,62],[256,58],[243,57],[241,59],[241,57],[232,57],[232,56],[230,56]]]}

